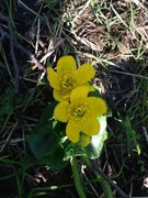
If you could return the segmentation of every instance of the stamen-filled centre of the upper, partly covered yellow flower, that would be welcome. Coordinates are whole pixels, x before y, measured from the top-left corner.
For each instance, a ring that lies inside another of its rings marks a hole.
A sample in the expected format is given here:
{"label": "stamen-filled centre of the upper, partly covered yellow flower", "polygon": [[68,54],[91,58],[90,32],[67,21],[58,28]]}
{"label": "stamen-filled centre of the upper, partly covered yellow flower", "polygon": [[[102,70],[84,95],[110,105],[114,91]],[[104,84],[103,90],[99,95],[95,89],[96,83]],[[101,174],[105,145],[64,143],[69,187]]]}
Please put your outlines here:
{"label": "stamen-filled centre of the upper, partly covered yellow flower", "polygon": [[77,80],[73,76],[73,74],[62,74],[61,78],[60,78],[60,81],[61,81],[61,88],[64,91],[69,91],[71,89],[73,89],[75,87],[77,87]]}

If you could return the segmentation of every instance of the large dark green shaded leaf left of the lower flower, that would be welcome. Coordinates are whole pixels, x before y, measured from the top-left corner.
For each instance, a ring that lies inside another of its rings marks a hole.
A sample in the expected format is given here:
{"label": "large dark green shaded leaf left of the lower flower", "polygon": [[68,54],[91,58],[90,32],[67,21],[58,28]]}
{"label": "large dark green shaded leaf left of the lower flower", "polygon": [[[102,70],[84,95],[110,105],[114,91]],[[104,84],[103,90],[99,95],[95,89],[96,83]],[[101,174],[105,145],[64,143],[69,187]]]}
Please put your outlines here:
{"label": "large dark green shaded leaf left of the lower flower", "polygon": [[32,134],[26,135],[27,143],[41,164],[48,165],[53,170],[58,170],[67,165],[64,162],[64,146],[60,144],[59,133],[64,124],[53,118],[53,111],[56,103],[47,106],[42,117],[34,128]]}

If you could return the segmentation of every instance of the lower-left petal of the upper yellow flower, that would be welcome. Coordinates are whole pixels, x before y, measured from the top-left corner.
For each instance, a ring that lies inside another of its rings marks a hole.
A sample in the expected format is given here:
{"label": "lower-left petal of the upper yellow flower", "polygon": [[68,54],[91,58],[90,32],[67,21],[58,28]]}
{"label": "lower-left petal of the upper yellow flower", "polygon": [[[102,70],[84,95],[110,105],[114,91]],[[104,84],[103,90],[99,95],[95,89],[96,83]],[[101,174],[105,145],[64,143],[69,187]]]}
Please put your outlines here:
{"label": "lower-left petal of the upper yellow flower", "polygon": [[57,101],[68,101],[70,98],[70,92],[64,94],[61,90],[54,89],[53,96]]}

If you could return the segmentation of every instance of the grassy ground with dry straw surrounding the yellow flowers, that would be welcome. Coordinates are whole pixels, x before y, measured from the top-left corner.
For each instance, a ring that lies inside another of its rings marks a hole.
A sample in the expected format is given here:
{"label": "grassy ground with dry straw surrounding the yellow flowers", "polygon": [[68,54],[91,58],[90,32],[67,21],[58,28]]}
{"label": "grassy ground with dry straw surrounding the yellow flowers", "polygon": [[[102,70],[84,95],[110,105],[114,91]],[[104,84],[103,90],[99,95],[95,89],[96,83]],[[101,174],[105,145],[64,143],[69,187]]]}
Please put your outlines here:
{"label": "grassy ground with dry straw surrounding the yellow flowers", "polygon": [[[133,197],[148,195],[143,184],[148,157],[148,10],[146,1],[141,4],[145,9],[136,1],[106,0],[41,0],[35,6],[9,0],[1,4],[18,42],[45,68],[55,67],[65,54],[73,55],[78,65],[90,62],[95,67],[93,81],[100,86],[112,117],[107,141],[93,163]],[[9,33],[5,22],[0,22]],[[0,43],[1,196],[77,197],[70,164],[53,170],[31,152],[26,136],[33,134],[43,109],[53,101],[52,88],[46,75],[33,69],[35,65],[15,47],[20,69],[20,92],[15,98],[9,45],[7,37]],[[78,167],[88,197],[105,198],[110,190],[118,197],[116,187],[95,175],[84,161],[80,160]]]}

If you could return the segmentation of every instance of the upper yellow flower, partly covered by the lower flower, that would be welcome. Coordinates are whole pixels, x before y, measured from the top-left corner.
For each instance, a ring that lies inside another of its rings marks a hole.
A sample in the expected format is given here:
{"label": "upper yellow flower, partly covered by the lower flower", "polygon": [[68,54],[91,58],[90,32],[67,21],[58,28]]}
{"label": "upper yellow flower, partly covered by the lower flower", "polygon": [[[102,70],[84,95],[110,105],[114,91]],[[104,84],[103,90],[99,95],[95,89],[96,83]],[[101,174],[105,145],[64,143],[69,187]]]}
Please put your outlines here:
{"label": "upper yellow flower, partly covered by the lower flower", "polygon": [[87,85],[95,75],[94,68],[86,63],[77,69],[72,56],[66,55],[58,59],[57,72],[47,67],[47,79],[54,88],[54,98],[58,101],[68,100],[72,89]]}

